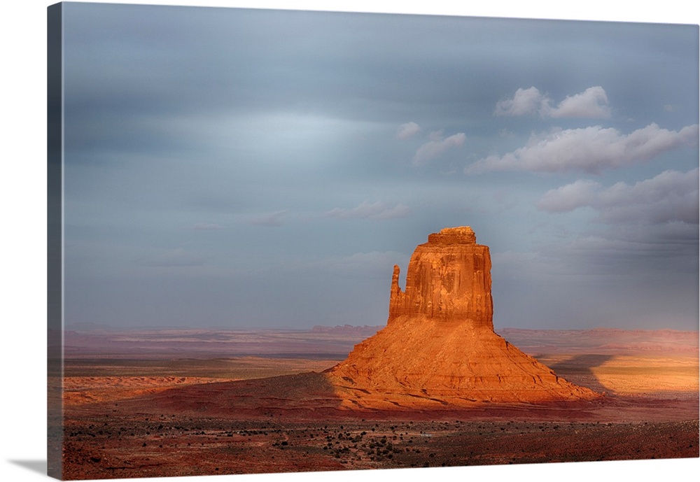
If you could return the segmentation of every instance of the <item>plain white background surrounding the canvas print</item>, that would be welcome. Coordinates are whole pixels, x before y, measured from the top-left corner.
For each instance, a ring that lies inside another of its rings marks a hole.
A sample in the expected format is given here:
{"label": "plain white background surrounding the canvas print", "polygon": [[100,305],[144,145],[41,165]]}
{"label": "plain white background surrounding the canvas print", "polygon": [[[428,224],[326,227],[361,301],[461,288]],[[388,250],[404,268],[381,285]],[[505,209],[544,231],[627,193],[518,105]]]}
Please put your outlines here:
{"label": "plain white background surrounding the canvas print", "polygon": [[[0,196],[0,335],[2,382],[0,384],[0,479],[45,479],[45,64],[46,7],[51,1],[3,1],[0,13],[2,36],[2,141]],[[425,1],[112,1],[111,3],[158,3],[192,6],[239,6],[339,10],[386,13],[424,13],[490,17],[528,17],[575,20],[616,20],[698,24],[697,6],[687,0],[644,2],[594,0],[458,2]],[[652,66],[650,66],[652,67]],[[373,472],[316,472],[311,474],[216,476],[216,481],[380,481],[440,478],[509,479],[542,481],[615,480],[652,481],[700,473],[700,459],[645,460],[640,462],[577,462],[549,465],[402,469]],[[198,481],[202,478],[148,479]]]}

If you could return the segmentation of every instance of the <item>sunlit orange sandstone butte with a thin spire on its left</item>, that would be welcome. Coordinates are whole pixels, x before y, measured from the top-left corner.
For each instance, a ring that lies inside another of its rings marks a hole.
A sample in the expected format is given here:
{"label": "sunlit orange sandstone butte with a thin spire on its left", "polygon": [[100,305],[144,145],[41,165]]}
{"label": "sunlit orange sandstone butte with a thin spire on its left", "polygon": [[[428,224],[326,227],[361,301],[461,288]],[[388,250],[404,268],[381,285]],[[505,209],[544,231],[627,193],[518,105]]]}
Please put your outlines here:
{"label": "sunlit orange sandstone butte with a thin spire on its left", "polygon": [[388,322],[325,372],[348,409],[591,400],[493,332],[491,255],[470,227],[430,234],[394,267]]}

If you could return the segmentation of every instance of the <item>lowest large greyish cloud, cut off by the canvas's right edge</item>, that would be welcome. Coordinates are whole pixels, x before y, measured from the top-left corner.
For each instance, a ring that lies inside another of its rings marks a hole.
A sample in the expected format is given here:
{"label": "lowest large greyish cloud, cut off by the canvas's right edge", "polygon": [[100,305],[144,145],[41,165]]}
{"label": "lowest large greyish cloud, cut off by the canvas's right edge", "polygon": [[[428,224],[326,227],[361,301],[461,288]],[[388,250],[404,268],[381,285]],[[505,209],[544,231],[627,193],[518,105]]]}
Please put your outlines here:
{"label": "lowest large greyish cloud, cut off by the canvas's right edge", "polygon": [[577,180],[547,192],[538,208],[562,212],[589,206],[608,223],[681,221],[696,225],[699,201],[698,169],[693,169],[686,173],[664,171],[634,185],[617,183],[608,188],[591,180]]}

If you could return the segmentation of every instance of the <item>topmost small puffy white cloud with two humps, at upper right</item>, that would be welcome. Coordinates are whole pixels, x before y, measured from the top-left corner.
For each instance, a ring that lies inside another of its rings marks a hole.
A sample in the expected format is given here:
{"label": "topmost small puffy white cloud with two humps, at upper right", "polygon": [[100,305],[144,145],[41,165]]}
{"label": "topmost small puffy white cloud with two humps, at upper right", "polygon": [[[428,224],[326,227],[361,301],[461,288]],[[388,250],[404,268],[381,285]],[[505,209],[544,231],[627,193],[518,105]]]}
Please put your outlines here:
{"label": "topmost small puffy white cloud with two humps, at upper right", "polygon": [[512,99],[496,104],[495,115],[540,115],[552,118],[610,118],[608,94],[603,87],[589,87],[580,94],[566,97],[558,106],[552,107],[552,98],[542,94],[536,87],[518,89]]}

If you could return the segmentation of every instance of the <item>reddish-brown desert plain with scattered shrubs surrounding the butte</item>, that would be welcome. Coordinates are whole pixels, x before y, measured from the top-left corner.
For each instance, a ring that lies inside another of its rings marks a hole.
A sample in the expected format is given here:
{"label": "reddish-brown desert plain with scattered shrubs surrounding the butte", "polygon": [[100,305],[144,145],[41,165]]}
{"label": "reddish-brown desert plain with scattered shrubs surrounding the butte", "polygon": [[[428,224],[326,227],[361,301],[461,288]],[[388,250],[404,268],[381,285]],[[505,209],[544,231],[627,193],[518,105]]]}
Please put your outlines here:
{"label": "reddish-brown desert plain with scattered shrubs surrounding the butte", "polygon": [[64,478],[699,456],[697,332],[504,329],[605,396],[349,411],[321,372],[379,328],[67,332]]}

